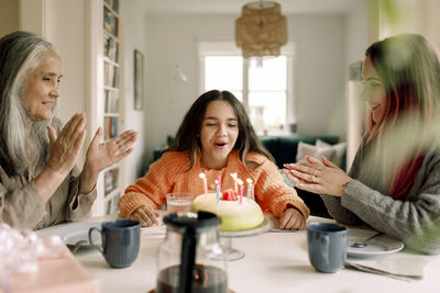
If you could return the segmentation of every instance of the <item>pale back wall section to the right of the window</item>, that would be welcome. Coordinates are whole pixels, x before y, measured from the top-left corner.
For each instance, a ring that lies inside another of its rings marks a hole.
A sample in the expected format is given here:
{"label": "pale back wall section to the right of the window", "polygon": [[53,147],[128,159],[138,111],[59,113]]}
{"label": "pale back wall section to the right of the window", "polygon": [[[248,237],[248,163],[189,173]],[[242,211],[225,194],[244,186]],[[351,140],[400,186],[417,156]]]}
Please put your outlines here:
{"label": "pale back wall section to the right of the window", "polygon": [[294,95],[298,133],[345,137],[344,16],[292,15],[295,42]]}

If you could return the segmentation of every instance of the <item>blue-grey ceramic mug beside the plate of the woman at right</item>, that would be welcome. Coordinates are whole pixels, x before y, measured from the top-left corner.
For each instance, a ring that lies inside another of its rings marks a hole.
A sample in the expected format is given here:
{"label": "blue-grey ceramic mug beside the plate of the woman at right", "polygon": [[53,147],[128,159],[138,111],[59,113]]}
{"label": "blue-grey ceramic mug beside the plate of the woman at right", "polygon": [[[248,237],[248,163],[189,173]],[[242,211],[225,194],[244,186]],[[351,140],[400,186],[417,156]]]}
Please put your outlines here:
{"label": "blue-grey ceramic mug beside the plate of the woman at right", "polygon": [[349,230],[331,223],[307,225],[309,260],[319,272],[332,273],[343,267],[349,245]]}

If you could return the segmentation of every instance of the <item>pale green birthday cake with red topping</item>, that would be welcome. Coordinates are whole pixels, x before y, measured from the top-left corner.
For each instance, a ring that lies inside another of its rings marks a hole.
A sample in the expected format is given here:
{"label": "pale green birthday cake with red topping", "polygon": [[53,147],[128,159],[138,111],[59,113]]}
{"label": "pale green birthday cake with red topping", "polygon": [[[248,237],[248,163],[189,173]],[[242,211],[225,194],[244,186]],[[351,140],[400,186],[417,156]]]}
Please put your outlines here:
{"label": "pale green birthday cake with red topping", "polygon": [[233,190],[226,190],[217,199],[216,193],[200,194],[194,200],[195,212],[205,211],[221,217],[220,230],[238,232],[256,228],[264,221],[260,205],[245,196],[240,199]]}

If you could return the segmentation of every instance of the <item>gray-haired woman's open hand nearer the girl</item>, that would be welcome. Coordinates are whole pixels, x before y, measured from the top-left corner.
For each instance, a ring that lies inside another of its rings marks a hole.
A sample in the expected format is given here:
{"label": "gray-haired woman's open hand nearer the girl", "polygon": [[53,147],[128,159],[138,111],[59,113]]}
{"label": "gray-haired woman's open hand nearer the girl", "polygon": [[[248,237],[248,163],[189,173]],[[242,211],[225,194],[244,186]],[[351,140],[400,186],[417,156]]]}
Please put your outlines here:
{"label": "gray-haired woman's open hand nearer the girl", "polygon": [[134,131],[127,131],[103,143],[101,143],[102,136],[103,131],[99,127],[87,149],[79,193],[90,192],[96,185],[99,172],[129,156],[133,151],[131,146],[138,139],[138,133]]}

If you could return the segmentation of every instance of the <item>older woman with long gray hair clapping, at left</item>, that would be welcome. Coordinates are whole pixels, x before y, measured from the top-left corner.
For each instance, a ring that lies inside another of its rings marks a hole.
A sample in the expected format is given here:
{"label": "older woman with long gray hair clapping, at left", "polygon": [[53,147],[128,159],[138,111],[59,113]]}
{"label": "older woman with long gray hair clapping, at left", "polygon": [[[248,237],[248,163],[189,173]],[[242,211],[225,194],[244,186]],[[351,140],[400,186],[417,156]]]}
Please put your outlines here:
{"label": "older woman with long gray hair clapping, at left", "polygon": [[26,32],[0,38],[0,221],[38,229],[85,216],[100,171],[125,158],[138,133],[101,143],[96,132],[82,170],[75,166],[86,115],[62,126],[54,116],[62,59],[47,41]]}

